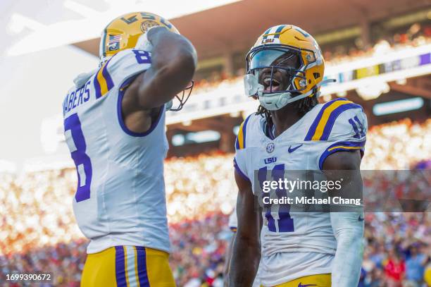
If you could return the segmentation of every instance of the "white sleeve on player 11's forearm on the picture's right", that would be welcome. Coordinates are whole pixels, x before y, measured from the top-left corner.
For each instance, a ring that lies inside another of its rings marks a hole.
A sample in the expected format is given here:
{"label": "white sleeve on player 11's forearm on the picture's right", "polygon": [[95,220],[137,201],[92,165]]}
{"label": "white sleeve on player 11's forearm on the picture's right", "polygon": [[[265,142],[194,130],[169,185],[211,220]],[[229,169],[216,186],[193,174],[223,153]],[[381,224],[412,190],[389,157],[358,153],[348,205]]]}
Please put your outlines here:
{"label": "white sleeve on player 11's forearm on the picture's right", "polygon": [[358,286],[363,259],[363,221],[358,221],[359,218],[363,218],[361,212],[331,213],[332,229],[337,238],[332,286]]}

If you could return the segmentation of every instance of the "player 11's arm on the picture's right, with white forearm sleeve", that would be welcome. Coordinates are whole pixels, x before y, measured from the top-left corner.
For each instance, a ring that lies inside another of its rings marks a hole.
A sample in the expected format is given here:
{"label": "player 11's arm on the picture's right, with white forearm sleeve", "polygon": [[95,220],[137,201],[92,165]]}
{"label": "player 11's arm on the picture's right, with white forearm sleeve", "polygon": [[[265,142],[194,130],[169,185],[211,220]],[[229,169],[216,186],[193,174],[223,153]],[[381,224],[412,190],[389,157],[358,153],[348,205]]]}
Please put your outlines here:
{"label": "player 11's arm on the picture's right, with white forearm sleeve", "polygon": [[[336,152],[327,157],[323,171],[332,178],[337,171],[351,171],[343,174],[342,193],[351,197],[361,194],[362,178],[359,171],[361,154],[355,152]],[[354,212],[331,212],[331,225],[337,239],[337,251],[332,264],[332,286],[358,286],[363,259],[363,208]]]}

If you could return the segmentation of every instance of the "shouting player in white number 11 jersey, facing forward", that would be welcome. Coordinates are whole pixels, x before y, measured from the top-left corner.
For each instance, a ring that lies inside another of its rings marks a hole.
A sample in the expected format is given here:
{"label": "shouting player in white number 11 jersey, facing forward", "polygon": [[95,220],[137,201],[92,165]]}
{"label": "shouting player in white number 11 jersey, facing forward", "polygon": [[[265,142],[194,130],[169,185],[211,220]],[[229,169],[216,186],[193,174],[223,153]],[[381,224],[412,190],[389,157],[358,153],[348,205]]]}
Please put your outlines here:
{"label": "shouting player in white number 11 jersey, facing forward", "polygon": [[267,177],[277,181],[285,171],[299,170],[328,176],[334,170],[351,171],[342,190],[349,187],[360,195],[366,115],[342,98],[318,104],[320,85],[327,82],[323,57],[316,40],[294,25],[266,30],[246,64],[246,94],[261,105],[242,123],[235,142],[238,228],[230,286],[251,286],[258,267],[263,286],[357,286],[362,206],[349,212],[271,207],[261,216],[255,196],[262,194],[261,181]]}

